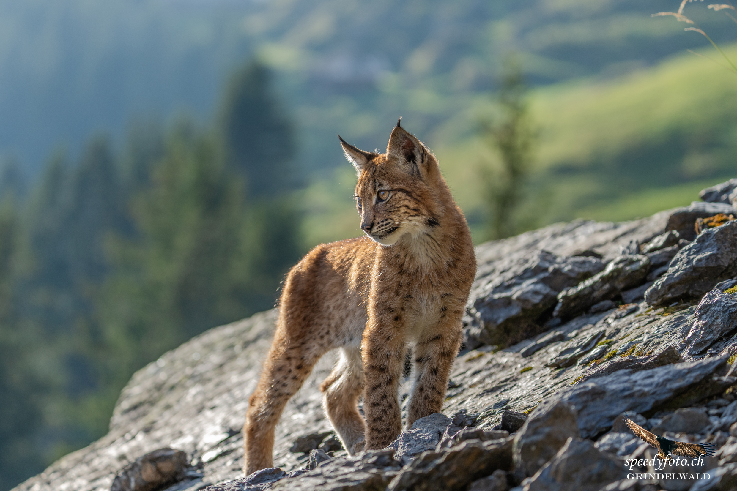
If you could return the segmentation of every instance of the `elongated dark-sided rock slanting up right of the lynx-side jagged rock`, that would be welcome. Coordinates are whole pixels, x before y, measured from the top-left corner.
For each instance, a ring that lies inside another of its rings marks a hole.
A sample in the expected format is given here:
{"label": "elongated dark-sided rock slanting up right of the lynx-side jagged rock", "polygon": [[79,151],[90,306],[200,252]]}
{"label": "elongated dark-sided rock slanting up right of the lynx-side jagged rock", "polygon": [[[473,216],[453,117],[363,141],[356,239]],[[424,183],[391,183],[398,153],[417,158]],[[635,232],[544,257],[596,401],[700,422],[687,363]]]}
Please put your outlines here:
{"label": "elongated dark-sided rock slanting up right of the lynx-side jagged rock", "polygon": [[650,260],[646,255],[621,255],[607,264],[604,271],[560,292],[553,316],[568,319],[587,311],[601,300],[612,299],[623,290],[639,286],[649,271]]}

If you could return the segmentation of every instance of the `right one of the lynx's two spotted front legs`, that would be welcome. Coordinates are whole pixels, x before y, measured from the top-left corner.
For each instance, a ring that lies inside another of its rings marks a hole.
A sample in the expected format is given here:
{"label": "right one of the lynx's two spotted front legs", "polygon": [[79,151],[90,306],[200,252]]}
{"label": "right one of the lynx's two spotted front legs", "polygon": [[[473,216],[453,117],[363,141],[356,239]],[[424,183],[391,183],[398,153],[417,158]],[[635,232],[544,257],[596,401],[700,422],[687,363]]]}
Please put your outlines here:
{"label": "right one of the lynx's two spotted front legs", "polygon": [[443,322],[427,330],[415,346],[417,367],[407,428],[421,417],[443,409],[450,367],[461,347],[461,322]]}

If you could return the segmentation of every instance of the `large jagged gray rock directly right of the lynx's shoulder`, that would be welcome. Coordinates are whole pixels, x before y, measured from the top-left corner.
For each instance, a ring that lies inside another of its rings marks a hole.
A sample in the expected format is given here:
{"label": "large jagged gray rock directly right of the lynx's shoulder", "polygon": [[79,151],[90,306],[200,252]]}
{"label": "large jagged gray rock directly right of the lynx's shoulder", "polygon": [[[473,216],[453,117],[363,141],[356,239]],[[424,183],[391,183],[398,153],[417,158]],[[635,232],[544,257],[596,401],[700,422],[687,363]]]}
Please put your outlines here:
{"label": "large jagged gray rock directly right of the lynx's shoulder", "polygon": [[474,284],[474,336],[487,345],[509,346],[538,333],[538,319],[556,304],[558,292],[603,268],[598,258],[562,258],[545,250],[511,258]]}

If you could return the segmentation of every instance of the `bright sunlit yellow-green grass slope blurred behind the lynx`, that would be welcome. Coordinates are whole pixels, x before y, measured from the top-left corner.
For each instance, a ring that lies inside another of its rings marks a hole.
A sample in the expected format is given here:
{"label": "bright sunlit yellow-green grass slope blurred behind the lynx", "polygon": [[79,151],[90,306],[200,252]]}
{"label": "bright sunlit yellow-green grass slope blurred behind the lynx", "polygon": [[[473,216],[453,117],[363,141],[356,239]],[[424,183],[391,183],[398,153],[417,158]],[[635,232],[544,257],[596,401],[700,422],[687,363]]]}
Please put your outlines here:
{"label": "bright sunlit yellow-green grass slope blurred behind the lynx", "polygon": [[[737,59],[737,46],[726,51]],[[614,80],[538,89],[531,109],[540,137],[525,214],[537,217],[534,226],[647,216],[688,205],[700,189],[737,175],[737,76],[694,54]],[[432,135],[419,135],[477,232],[484,193],[478,170],[495,165],[496,157],[478,136],[449,141],[448,135],[491,112],[490,97],[481,94]],[[307,189],[307,244],[360,233],[354,183],[345,163]]]}

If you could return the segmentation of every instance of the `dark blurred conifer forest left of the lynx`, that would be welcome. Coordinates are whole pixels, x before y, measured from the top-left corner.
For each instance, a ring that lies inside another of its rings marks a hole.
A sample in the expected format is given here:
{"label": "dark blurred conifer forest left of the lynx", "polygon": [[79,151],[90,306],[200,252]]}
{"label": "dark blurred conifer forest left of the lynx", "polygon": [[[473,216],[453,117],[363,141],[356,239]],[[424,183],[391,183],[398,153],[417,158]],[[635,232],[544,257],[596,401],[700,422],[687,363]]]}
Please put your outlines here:
{"label": "dark blurred conifer forest left of the lynx", "polygon": [[135,370],[273,306],[301,244],[271,78],[237,71],[212,127],[137,124],[118,152],[96,136],[27,190],[4,169],[0,489],[105,434]]}

